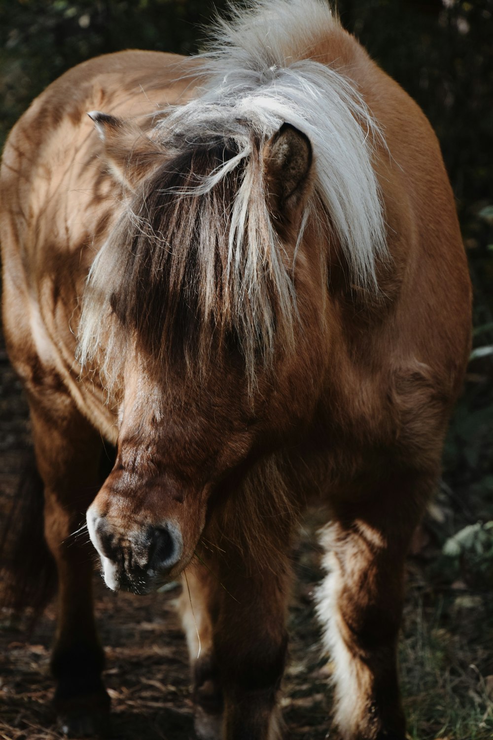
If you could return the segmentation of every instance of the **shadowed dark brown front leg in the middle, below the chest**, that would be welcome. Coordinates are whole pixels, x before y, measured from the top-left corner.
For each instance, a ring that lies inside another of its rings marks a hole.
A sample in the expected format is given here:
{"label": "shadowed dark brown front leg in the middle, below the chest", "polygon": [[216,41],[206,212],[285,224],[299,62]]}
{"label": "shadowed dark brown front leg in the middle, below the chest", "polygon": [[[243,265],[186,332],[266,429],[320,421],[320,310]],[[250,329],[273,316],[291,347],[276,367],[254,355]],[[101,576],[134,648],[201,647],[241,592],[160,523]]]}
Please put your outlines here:
{"label": "shadowed dark brown front leg in the middle, below the chest", "polygon": [[[224,740],[280,737],[279,684],[285,667],[290,566],[281,552],[271,563],[244,563],[221,574],[214,652],[224,699]],[[235,573],[236,571],[236,573]]]}

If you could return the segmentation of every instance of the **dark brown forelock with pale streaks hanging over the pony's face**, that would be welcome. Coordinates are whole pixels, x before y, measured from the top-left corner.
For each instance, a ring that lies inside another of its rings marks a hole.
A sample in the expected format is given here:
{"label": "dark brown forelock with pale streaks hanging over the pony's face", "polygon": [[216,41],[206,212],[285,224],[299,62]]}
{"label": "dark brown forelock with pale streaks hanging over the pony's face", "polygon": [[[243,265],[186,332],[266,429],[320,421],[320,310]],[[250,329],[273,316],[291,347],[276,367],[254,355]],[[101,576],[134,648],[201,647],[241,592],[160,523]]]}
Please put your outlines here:
{"label": "dark brown forelock with pale streaks hanging over the pony's face", "polygon": [[[257,147],[258,152],[258,147]],[[251,311],[234,310],[228,275],[231,209],[241,184],[241,161],[219,183],[197,195],[205,177],[238,154],[232,139],[195,138],[145,182],[112,240],[120,257],[113,275],[112,311],[137,350],[179,366],[200,366],[209,349],[239,354],[254,345],[257,360],[272,351]],[[248,259],[245,253],[242,262]],[[264,271],[265,317],[276,326],[276,291]]]}

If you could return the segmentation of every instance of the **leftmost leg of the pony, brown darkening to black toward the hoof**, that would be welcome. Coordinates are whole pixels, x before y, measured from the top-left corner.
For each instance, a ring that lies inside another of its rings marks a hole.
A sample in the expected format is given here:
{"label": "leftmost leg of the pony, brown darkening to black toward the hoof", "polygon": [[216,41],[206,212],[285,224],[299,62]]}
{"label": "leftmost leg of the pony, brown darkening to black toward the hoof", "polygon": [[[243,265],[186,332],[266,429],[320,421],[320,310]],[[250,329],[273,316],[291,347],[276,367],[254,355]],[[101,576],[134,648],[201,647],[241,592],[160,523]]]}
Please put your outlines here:
{"label": "leftmost leg of the pony, brown darkening to black toward the hoof", "polygon": [[51,669],[55,709],[69,736],[106,734],[109,696],[92,607],[92,545],[85,512],[99,485],[101,437],[64,394],[30,394],[36,461],[44,482],[44,533],[58,571],[58,622]]}

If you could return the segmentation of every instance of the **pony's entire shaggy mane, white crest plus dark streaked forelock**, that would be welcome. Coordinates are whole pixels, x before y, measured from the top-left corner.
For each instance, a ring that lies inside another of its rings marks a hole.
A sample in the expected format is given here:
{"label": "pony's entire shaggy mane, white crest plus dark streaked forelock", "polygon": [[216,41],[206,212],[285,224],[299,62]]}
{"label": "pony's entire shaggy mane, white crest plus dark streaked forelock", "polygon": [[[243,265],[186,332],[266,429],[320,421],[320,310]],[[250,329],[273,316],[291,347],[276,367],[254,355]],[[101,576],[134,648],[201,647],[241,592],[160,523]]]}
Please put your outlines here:
{"label": "pony's entire shaggy mane, white crest plus dark streaked forelock", "polygon": [[[163,164],[98,253],[83,297],[79,360],[118,385],[129,341],[163,361],[203,364],[214,347],[259,361],[293,349],[296,262],[268,211],[262,148],[288,122],[313,148],[307,223],[337,240],[353,282],[375,290],[386,252],[372,166],[383,145],[352,81],[310,58],[338,21],[322,0],[252,0],[218,21],[197,97],[158,116]],[[322,241],[322,240],[321,240]]]}

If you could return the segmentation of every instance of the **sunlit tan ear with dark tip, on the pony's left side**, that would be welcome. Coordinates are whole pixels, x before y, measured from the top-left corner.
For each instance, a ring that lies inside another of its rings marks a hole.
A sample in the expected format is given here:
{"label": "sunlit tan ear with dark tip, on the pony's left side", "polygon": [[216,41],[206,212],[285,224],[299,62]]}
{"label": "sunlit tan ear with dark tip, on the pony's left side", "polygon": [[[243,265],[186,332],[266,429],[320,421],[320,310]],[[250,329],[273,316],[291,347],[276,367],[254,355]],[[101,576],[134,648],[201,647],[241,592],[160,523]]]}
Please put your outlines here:
{"label": "sunlit tan ear with dark tip, on the pony's left side", "polygon": [[162,161],[162,147],[132,121],[98,110],[87,115],[94,121],[103,141],[109,172],[126,188],[135,191],[137,184]]}

